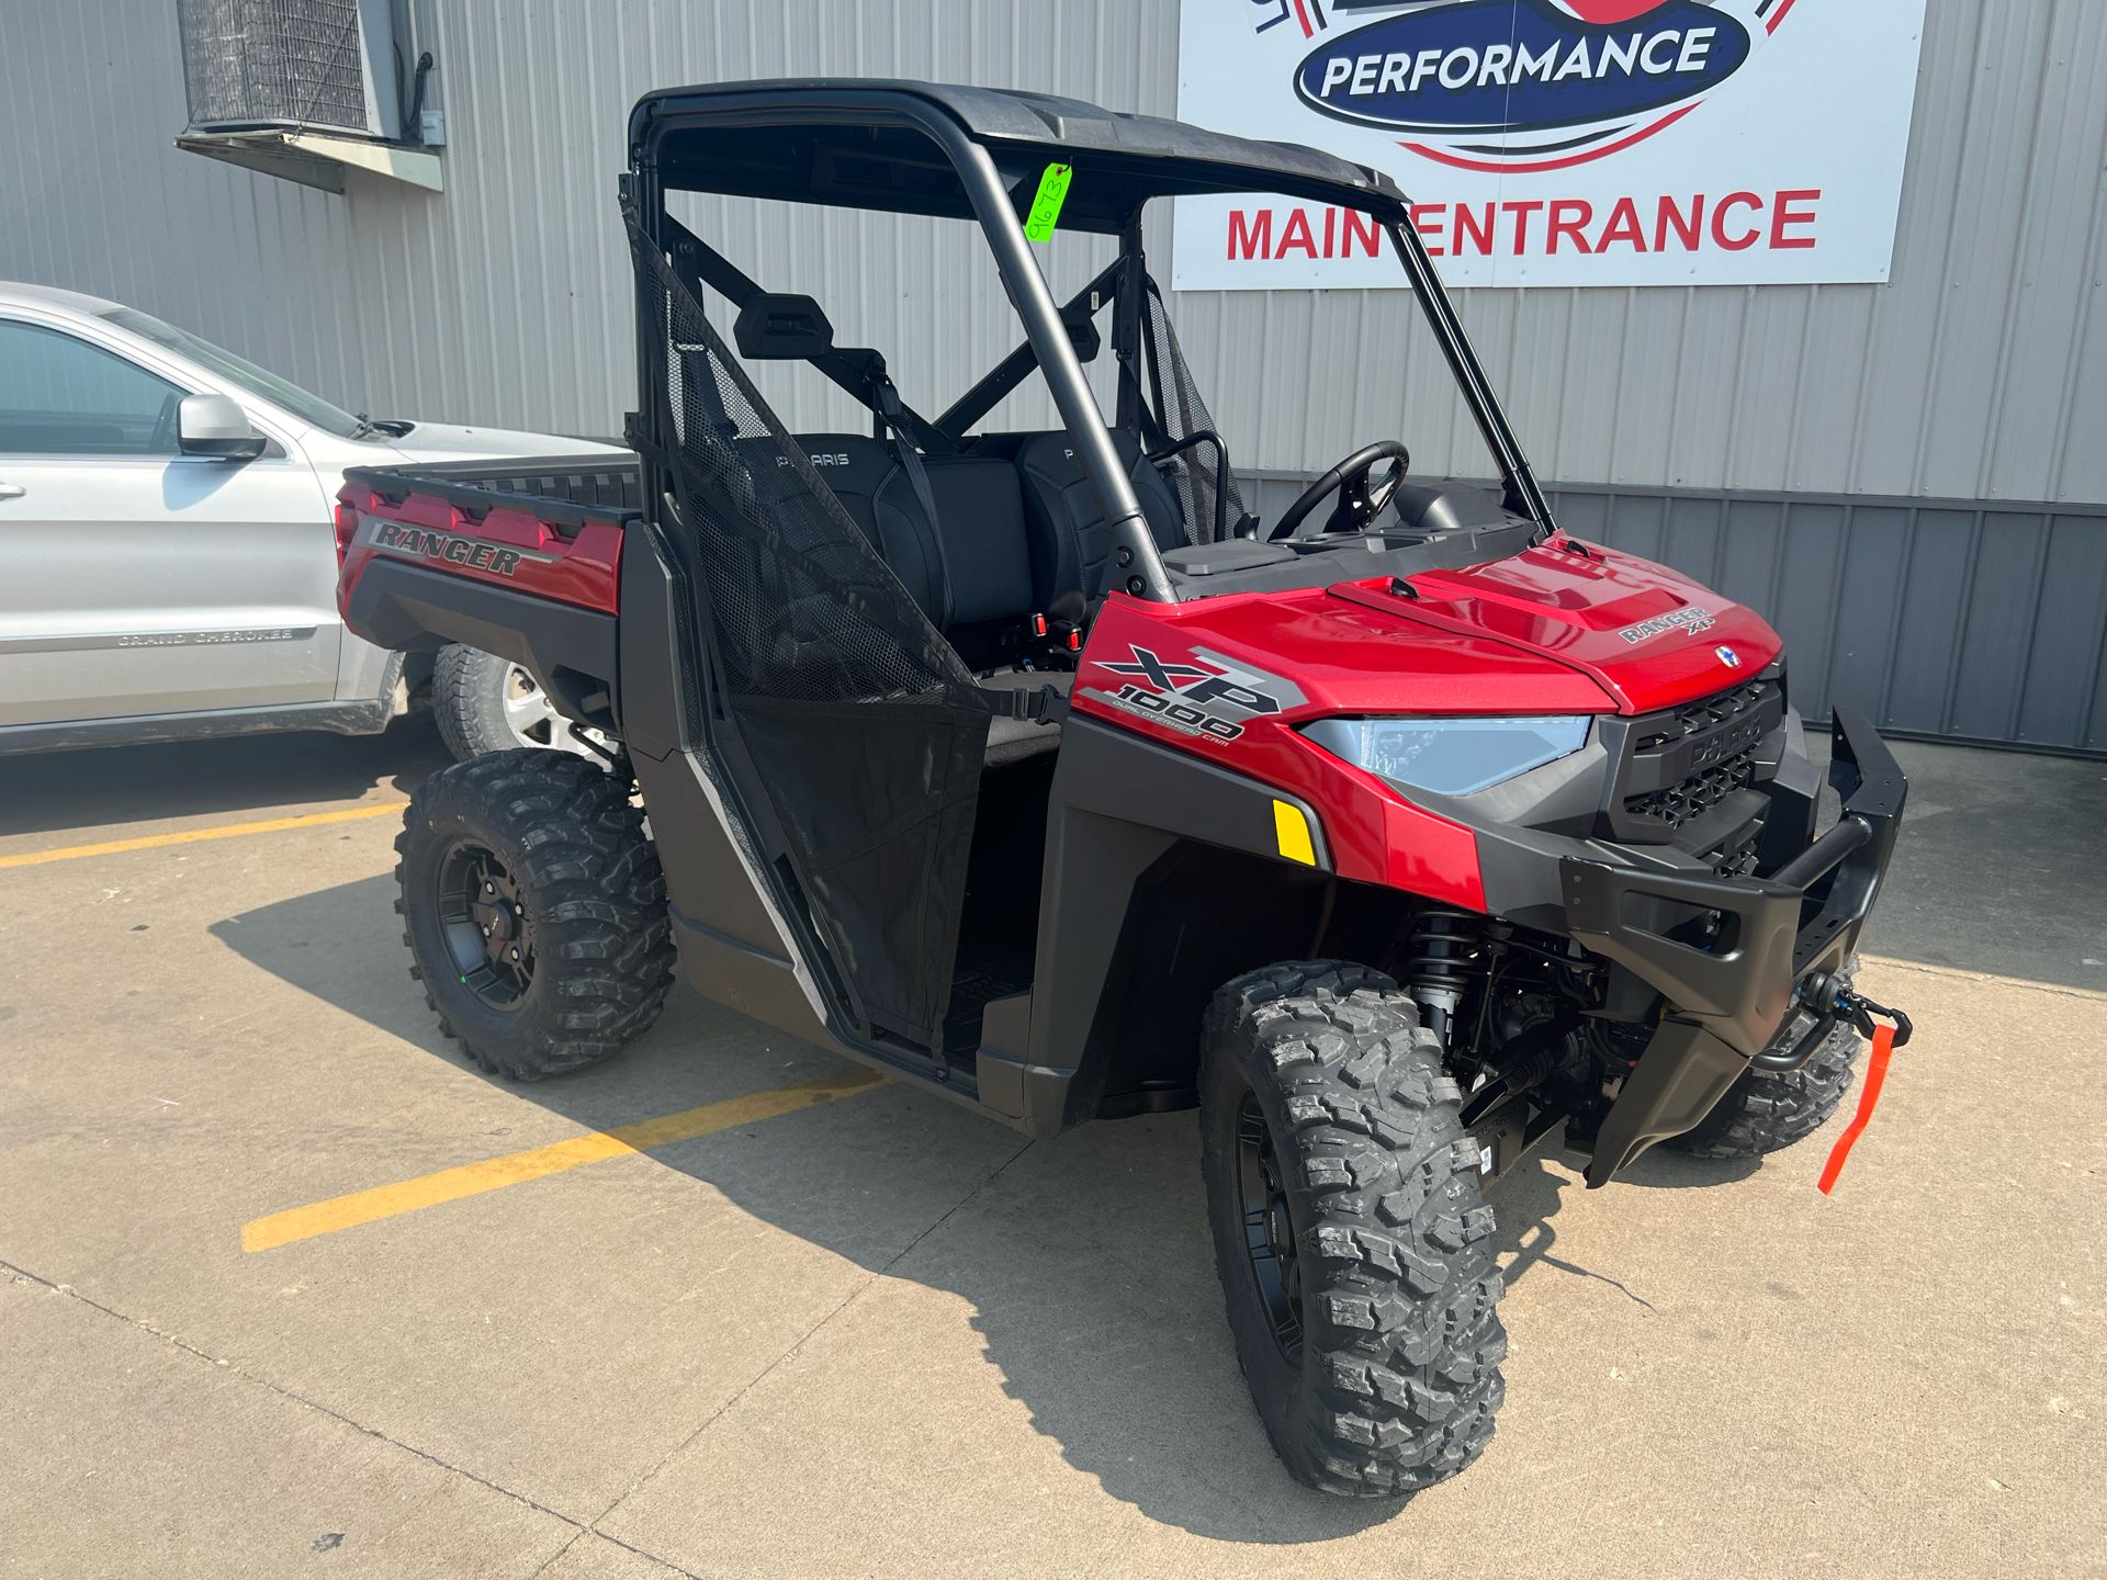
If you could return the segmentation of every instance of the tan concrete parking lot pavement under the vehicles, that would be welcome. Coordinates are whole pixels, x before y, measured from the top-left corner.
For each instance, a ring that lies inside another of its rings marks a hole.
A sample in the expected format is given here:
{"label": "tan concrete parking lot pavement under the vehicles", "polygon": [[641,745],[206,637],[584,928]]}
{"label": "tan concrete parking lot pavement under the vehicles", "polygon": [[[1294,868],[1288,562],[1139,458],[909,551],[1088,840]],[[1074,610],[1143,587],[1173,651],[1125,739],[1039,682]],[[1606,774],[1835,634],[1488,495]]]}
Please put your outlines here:
{"label": "tan concrete parking lot pavement under the vehicles", "polygon": [[[1190,1114],[1024,1144],[887,1083],[263,1251],[293,1207],[826,1083],[678,992],[541,1087],[436,1036],[394,822],[0,868],[0,1576],[2107,1572],[2101,765],[1905,748],[1833,1199],[1502,1180],[1509,1403],[1407,1504],[1237,1376]],[[0,763],[0,862],[400,798],[417,727]],[[2090,973],[2090,975],[2088,975]]]}

